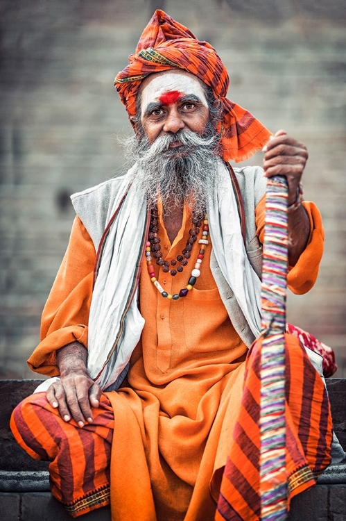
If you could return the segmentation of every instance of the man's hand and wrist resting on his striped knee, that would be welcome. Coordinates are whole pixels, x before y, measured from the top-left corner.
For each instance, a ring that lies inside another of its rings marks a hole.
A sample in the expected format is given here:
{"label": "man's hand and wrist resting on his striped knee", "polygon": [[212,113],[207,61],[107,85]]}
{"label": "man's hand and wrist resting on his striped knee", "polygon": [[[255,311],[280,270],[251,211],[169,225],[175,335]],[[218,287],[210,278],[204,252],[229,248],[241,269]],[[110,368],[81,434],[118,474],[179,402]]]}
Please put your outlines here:
{"label": "man's hand and wrist resting on his striped knee", "polygon": [[93,420],[92,407],[98,407],[101,388],[87,373],[87,351],[79,342],[72,342],[57,352],[60,381],[52,383],[46,397],[58,408],[65,422],[71,418],[83,427]]}

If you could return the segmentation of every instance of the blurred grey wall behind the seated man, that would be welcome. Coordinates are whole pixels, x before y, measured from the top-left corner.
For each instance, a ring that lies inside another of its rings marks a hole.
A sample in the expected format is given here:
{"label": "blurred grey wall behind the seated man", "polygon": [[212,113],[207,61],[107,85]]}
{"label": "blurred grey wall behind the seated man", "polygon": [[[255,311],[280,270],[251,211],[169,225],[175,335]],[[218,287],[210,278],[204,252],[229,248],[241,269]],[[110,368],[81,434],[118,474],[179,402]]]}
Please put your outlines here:
{"label": "blurred grey wall behind the seated man", "polygon": [[216,47],[230,99],[307,145],[304,194],[322,212],[325,255],[288,320],[334,347],[346,377],[345,2],[1,0],[0,378],[38,377],[26,358],[69,239],[69,195],[126,170],[113,80],[155,8]]}

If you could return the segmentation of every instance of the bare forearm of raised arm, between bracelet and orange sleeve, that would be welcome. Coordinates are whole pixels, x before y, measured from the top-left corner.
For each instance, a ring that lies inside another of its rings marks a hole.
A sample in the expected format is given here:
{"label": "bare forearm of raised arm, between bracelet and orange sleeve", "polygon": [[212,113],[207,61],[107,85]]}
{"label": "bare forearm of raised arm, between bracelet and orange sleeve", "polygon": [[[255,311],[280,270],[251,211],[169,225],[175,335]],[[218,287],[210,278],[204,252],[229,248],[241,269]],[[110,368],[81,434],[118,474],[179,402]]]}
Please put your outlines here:
{"label": "bare forearm of raised arm, between bracelet and orange sleeve", "polygon": [[288,213],[288,263],[295,266],[310,235],[309,216],[302,204]]}

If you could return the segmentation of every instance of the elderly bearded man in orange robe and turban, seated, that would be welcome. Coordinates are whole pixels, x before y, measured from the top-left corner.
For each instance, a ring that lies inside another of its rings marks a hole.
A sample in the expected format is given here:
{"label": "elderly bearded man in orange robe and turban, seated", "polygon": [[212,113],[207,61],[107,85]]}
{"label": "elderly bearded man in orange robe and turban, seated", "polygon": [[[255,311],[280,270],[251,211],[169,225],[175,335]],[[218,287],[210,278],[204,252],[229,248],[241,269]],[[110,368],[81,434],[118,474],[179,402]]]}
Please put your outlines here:
{"label": "elderly bearded man in orange robe and turban, seated", "polygon": [[[286,176],[288,286],[306,292],[323,240],[318,210],[302,203],[306,147],[284,131],[270,139],[226,99],[216,51],[162,11],[115,85],[134,166],[72,197],[28,361],[60,379],[19,404],[12,431],[51,462],[52,493],[73,517],[111,502],[114,521],[258,520],[264,191]],[[264,176],[230,167],[263,145]],[[294,335],[286,424],[292,497],[331,459],[325,387]]]}

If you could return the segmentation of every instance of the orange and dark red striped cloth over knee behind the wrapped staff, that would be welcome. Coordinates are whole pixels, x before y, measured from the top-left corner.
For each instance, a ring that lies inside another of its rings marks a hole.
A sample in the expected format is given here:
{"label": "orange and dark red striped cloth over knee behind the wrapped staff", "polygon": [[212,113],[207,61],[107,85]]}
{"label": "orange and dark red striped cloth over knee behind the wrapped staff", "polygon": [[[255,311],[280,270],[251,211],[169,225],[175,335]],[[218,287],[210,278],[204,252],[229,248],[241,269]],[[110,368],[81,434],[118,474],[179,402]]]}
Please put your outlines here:
{"label": "orange and dark red striped cloth over knee behind the wrapped staff", "polygon": [[[285,336],[286,474],[291,498],[315,484],[331,462],[332,424],[325,385],[297,339]],[[232,436],[216,521],[260,519],[260,362],[261,340],[248,352],[241,412]]]}

